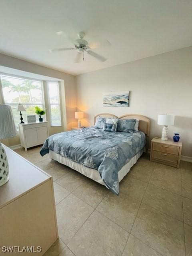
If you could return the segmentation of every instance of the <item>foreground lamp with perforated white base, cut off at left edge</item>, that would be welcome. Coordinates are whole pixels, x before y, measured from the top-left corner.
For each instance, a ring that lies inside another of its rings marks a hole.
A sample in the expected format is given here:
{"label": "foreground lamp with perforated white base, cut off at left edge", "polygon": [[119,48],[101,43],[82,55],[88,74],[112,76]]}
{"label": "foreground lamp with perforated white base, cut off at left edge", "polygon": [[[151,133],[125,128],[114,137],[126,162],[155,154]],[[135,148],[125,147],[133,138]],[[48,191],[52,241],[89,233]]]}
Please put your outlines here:
{"label": "foreground lamp with perforated white base, cut off at left edge", "polygon": [[[0,105],[0,139],[16,136],[16,127],[13,119],[12,109],[8,105]],[[0,186],[9,180],[8,159],[0,142]]]}

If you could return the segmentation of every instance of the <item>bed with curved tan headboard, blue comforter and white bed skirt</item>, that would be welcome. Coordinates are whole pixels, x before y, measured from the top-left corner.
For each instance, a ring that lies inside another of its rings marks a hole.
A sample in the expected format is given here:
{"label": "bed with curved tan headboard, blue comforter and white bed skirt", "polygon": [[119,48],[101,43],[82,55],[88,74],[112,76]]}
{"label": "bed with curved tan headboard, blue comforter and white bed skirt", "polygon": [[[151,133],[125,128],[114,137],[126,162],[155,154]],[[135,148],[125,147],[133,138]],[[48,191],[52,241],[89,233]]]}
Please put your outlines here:
{"label": "bed with curved tan headboard, blue comforter and white bed skirt", "polygon": [[[117,118],[108,113],[98,117]],[[50,136],[40,154],[69,166],[81,174],[105,185],[119,194],[119,182],[143,154],[148,144],[150,120],[146,116],[128,114],[118,119],[138,119],[137,132],[104,132],[102,129],[82,128]]]}

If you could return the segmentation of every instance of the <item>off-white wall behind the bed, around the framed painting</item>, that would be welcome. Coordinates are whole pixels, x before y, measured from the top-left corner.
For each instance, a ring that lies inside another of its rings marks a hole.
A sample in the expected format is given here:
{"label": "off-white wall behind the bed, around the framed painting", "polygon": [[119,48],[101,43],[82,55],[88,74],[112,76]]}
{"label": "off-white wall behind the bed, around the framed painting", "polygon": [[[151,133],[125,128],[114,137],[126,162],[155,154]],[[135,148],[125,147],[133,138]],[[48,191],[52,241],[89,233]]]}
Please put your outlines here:
{"label": "off-white wall behind the bed, around the framed painting", "polygon": [[[97,70],[76,77],[78,109],[86,113],[84,125],[95,114],[142,114],[151,120],[150,139],[161,136],[158,114],[175,115],[169,137],[180,133],[182,155],[192,157],[192,47]],[[128,108],[103,107],[102,94],[130,90]]]}

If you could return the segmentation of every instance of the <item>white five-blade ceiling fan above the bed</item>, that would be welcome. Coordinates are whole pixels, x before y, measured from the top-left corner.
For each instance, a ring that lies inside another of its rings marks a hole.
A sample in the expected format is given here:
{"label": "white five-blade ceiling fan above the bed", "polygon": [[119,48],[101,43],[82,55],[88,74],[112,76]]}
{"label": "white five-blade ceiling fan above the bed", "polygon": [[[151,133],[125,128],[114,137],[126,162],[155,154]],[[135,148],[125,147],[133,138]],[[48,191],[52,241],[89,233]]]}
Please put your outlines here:
{"label": "white five-blade ceiling fan above the bed", "polygon": [[[78,33],[78,39],[74,41],[74,47],[67,47],[67,48],[56,48],[50,50],[50,52],[61,52],[61,51],[67,51],[67,50],[77,50],[77,55],[74,62],[80,62],[81,60],[84,60],[84,52],[88,53],[92,57],[96,58],[97,60],[104,62],[106,61],[106,58],[101,56],[100,54],[97,54],[96,52],[93,52],[90,49],[98,48],[101,44],[98,42],[94,42],[92,44],[89,44],[86,40],[84,40],[85,33],[80,32]],[[110,42],[106,40],[104,45],[110,46]]]}

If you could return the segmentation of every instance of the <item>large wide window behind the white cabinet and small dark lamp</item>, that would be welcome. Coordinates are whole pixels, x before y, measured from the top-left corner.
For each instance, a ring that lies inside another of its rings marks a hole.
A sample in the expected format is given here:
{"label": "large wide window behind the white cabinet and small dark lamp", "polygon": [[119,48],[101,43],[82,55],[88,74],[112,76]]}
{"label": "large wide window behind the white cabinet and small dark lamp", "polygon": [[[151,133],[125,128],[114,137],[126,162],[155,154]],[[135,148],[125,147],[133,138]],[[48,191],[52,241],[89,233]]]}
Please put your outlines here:
{"label": "large wide window behind the white cabinet and small dark lamp", "polygon": [[[17,112],[17,106],[19,103],[23,104],[26,109],[26,112],[22,112],[24,122],[27,121],[27,115],[35,114],[35,106],[39,106],[43,109],[45,108],[43,82],[7,75],[0,75],[0,79],[5,104],[11,106],[16,128],[18,130],[20,113]],[[45,118],[45,116],[43,117]],[[36,116],[36,119],[38,120],[38,116]]]}

